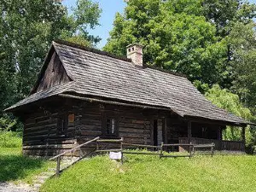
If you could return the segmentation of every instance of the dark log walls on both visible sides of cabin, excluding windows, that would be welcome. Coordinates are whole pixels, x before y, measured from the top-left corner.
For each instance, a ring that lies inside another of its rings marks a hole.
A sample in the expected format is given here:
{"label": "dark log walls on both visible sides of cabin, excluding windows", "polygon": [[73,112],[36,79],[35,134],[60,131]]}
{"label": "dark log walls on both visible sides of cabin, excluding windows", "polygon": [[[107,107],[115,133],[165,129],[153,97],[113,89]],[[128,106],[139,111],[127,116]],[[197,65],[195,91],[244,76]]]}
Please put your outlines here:
{"label": "dark log walls on both visible sides of cabin, excluding windows", "polygon": [[[55,101],[54,103],[61,104],[59,106],[53,106],[52,103],[47,104],[46,102],[44,105],[54,108],[55,112],[45,113],[42,109],[26,115],[23,139],[24,154],[52,156],[90,141],[95,137],[108,138],[103,129],[103,123],[106,121],[106,117],[114,117],[118,128],[118,134],[110,138],[124,137],[125,143],[154,144],[154,119],[158,120],[159,145],[164,140],[169,142],[173,136],[173,131],[166,123],[166,117],[168,115],[172,117],[169,111],[114,106],[75,99]],[[34,112],[35,109],[31,111]],[[68,125],[66,136],[57,134],[57,119],[63,113],[73,113],[75,116],[74,122]],[[172,133],[171,137],[169,136],[170,132]],[[84,146],[81,148],[81,151],[76,151],[73,155],[88,153],[95,148],[96,144],[90,143],[90,145]],[[102,148],[119,148],[119,146],[116,143],[108,143],[108,146],[102,146]]]}

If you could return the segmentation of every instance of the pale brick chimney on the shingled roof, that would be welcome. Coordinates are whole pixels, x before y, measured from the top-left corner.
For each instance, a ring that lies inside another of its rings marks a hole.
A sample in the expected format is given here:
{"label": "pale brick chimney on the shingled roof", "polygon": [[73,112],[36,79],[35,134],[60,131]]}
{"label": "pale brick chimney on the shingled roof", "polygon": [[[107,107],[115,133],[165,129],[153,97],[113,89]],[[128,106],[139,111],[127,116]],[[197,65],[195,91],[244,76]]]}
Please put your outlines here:
{"label": "pale brick chimney on the shingled roof", "polygon": [[127,47],[127,58],[137,65],[143,67],[143,45],[130,44]]}

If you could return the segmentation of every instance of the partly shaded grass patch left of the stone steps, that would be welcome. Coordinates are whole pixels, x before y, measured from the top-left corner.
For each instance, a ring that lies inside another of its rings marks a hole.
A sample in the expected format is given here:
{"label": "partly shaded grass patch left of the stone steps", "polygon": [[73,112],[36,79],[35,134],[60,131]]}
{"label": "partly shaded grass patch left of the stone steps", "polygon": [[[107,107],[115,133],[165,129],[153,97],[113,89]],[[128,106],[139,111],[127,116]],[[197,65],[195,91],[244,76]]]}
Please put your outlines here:
{"label": "partly shaded grass patch left of the stone steps", "polygon": [[48,160],[22,156],[21,138],[12,136],[10,139],[15,143],[7,146],[15,146],[15,148],[3,147],[0,144],[0,182],[32,183],[36,175],[54,166],[54,162]]}

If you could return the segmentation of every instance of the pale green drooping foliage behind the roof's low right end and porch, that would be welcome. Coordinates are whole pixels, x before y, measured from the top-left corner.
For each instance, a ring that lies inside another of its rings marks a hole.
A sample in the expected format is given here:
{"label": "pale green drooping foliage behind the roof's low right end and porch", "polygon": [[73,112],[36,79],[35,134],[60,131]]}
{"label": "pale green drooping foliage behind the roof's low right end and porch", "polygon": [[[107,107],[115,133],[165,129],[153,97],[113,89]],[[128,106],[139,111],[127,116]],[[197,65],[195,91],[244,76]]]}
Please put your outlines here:
{"label": "pale green drooping foliage behind the roof's low right end and porch", "polygon": [[[239,96],[231,93],[229,90],[222,90],[217,84],[207,91],[206,96],[207,99],[217,105],[218,108],[224,108],[228,112],[234,113],[249,121],[253,121],[255,119],[250,109],[243,107]],[[236,127],[228,127],[224,131],[224,139],[241,140],[241,130]],[[247,126],[246,139],[247,145],[256,144],[256,130],[253,126]]]}

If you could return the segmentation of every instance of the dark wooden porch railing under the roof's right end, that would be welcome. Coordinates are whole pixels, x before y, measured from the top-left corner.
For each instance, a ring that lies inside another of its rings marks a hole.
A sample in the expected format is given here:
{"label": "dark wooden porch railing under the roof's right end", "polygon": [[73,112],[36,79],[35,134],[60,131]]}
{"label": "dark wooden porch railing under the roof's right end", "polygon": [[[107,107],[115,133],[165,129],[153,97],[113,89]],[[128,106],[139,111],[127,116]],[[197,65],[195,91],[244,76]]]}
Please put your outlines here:
{"label": "dark wooden porch railing under the roof's right end", "polygon": [[[243,142],[236,142],[236,141],[223,141],[223,140],[216,140],[216,139],[205,139],[205,138],[197,138],[191,137],[190,141],[188,137],[181,137],[178,138],[179,143],[192,143],[192,144],[215,144],[215,150],[222,151],[241,151],[245,150]],[[183,148],[180,148],[181,150]]]}

